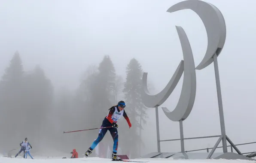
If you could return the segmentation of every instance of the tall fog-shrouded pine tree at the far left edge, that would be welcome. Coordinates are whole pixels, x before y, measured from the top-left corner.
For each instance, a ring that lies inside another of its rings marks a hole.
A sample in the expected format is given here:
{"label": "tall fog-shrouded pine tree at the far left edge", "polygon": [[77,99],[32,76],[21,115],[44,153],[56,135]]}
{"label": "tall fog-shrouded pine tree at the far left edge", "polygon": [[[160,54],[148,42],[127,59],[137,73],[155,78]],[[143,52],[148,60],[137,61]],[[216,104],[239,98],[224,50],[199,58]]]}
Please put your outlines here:
{"label": "tall fog-shrouded pine tree at the far left edge", "polygon": [[0,127],[3,131],[0,133],[0,138],[5,140],[1,148],[11,146],[12,142],[16,141],[21,134],[17,122],[22,121],[23,116],[23,74],[22,61],[16,51],[0,81]]}

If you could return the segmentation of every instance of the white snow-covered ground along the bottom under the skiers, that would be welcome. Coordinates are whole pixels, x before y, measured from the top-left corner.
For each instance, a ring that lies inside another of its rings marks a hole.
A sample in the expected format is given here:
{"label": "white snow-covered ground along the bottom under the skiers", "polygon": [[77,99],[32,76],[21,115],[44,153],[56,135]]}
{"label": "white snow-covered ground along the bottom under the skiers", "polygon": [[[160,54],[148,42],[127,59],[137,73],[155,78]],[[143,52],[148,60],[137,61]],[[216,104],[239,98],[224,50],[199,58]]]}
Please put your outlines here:
{"label": "white snow-covered ground along the bottom under the skiers", "polygon": [[[132,159],[133,160],[133,159]],[[149,161],[148,163],[256,163],[256,161],[249,160],[171,160],[171,159],[134,159],[136,161]],[[77,158],[77,159],[61,159],[61,158],[35,158],[34,160],[23,159],[21,157],[17,158],[8,158],[8,157],[0,157],[0,163],[115,163],[110,159],[91,157],[91,158]],[[131,162],[132,163],[132,162]]]}

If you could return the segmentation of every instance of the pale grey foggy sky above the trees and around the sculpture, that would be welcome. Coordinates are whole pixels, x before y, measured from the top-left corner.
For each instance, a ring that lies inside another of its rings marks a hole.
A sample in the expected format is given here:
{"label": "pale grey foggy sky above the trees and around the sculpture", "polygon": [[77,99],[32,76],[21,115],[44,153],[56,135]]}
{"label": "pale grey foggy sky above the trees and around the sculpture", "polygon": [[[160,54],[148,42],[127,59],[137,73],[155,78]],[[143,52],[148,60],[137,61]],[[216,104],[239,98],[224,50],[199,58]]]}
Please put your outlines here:
{"label": "pale grey foggy sky above the trees and around the sculpture", "polygon": [[[256,1],[205,1],[219,8],[226,21],[226,43],[218,57],[226,134],[235,144],[254,142],[256,131],[251,126],[256,123]],[[139,60],[157,93],[169,82],[183,59],[175,25],[183,27],[189,38],[195,66],[207,48],[206,31],[198,15],[191,10],[166,12],[178,2],[180,0],[2,0],[0,75],[18,50],[24,70],[40,65],[55,88],[73,90],[78,87],[86,67],[100,63],[103,56],[109,54],[116,73],[123,78],[129,60],[132,57]],[[196,70],[196,77],[195,105],[183,122],[184,137],[219,135],[213,64]],[[175,108],[182,79],[162,106]],[[179,138],[179,124],[168,120],[159,109],[160,139]],[[157,151],[155,110],[148,111],[150,119],[142,132],[147,135],[144,154]],[[185,140],[185,150],[212,147],[217,139]],[[249,152],[255,145],[238,148]],[[180,142],[161,143],[161,150],[180,151]]]}

